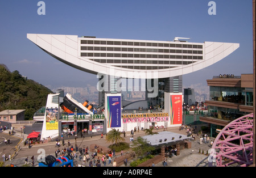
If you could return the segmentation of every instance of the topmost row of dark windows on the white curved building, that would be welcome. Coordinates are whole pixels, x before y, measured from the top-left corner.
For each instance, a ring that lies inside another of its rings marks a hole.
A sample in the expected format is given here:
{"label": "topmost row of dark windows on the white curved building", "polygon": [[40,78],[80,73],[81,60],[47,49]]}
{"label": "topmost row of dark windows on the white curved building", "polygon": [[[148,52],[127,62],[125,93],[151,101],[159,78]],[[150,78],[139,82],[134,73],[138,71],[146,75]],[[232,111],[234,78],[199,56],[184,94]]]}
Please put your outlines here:
{"label": "topmost row of dark windows on the white curved building", "polygon": [[145,43],[145,42],[133,42],[133,41],[81,40],[81,44],[126,45],[126,46],[158,46],[158,47],[168,47],[168,48],[199,48],[199,49],[203,49],[203,45],[175,44],[175,43]]}

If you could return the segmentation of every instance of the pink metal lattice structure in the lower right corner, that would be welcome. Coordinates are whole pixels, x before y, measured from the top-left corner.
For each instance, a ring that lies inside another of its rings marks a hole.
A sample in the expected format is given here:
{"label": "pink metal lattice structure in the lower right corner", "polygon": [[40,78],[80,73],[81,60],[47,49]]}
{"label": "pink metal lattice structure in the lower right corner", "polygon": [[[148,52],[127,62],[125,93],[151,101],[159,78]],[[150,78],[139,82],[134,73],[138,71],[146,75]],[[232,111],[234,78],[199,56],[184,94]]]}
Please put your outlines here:
{"label": "pink metal lattice structure in the lower right corner", "polygon": [[217,135],[212,149],[216,151],[216,166],[253,164],[253,113],[226,125]]}

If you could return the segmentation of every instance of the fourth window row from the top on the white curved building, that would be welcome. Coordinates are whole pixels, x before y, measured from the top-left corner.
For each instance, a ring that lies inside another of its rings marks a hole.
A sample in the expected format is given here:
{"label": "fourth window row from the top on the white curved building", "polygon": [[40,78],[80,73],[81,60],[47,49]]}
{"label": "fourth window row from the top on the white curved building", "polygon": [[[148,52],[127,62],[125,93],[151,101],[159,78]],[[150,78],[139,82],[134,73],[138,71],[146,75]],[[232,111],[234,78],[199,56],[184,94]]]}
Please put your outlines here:
{"label": "fourth window row from the top on the white curved building", "polygon": [[164,65],[188,65],[193,63],[192,61],[151,61],[151,60],[100,60],[100,59],[90,59],[95,62],[100,63],[142,63],[142,64],[164,64]]}

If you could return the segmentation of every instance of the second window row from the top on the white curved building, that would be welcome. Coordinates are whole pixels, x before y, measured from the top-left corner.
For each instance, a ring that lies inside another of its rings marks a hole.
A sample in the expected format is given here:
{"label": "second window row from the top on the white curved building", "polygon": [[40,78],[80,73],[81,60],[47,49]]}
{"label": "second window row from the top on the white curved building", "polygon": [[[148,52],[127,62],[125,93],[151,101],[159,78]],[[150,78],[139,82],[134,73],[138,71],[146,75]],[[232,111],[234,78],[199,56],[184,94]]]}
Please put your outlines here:
{"label": "second window row from the top on the white curved building", "polygon": [[81,46],[81,50],[123,51],[123,52],[149,52],[149,53],[188,53],[203,54],[203,50],[181,50],[181,49],[147,49],[147,48],[113,48]]}

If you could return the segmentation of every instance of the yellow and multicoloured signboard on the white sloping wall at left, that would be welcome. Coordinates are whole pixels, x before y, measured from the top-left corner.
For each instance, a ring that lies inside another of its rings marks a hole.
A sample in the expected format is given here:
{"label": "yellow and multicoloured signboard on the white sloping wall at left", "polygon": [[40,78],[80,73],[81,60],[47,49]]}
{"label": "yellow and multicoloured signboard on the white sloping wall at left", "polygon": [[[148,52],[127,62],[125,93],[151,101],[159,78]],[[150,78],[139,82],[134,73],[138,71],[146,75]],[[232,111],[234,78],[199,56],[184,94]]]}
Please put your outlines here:
{"label": "yellow and multicoloured signboard on the white sloping wall at left", "polygon": [[58,130],[58,109],[46,109],[46,130]]}

